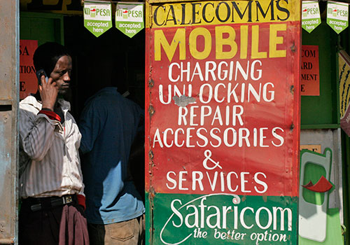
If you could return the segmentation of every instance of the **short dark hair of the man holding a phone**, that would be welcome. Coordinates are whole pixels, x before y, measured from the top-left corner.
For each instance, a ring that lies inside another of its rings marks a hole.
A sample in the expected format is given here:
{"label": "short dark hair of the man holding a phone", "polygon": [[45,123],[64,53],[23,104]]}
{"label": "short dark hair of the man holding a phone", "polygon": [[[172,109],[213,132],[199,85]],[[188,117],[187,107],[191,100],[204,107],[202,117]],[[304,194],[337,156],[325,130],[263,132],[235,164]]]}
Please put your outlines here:
{"label": "short dark hair of the man holding a phone", "polygon": [[50,76],[50,73],[55,69],[57,60],[64,55],[71,56],[63,45],[54,42],[44,43],[38,46],[34,52],[34,67],[36,71],[43,69]]}

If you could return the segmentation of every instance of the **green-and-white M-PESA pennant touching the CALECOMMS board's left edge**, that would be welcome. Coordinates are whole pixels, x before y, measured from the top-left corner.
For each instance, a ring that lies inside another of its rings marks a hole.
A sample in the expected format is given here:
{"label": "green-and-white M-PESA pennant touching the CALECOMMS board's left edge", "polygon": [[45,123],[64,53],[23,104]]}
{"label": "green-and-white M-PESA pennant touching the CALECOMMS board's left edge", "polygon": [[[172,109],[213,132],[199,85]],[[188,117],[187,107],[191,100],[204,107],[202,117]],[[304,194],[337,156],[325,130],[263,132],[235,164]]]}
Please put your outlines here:
{"label": "green-and-white M-PESA pennant touching the CALECOMMS board's left edge", "polygon": [[117,3],[116,28],[130,38],[144,29],[144,3]]}

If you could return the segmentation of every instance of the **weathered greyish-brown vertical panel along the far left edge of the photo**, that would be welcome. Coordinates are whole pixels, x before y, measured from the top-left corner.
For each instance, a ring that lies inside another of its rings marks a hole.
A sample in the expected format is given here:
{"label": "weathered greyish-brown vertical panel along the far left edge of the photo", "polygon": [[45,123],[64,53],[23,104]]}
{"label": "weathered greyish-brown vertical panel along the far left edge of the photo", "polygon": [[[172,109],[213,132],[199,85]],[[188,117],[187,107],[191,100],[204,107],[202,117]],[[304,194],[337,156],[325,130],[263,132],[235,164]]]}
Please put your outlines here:
{"label": "weathered greyish-brown vertical panel along the far left edge of the photo", "polygon": [[0,1],[0,244],[17,244],[19,1]]}

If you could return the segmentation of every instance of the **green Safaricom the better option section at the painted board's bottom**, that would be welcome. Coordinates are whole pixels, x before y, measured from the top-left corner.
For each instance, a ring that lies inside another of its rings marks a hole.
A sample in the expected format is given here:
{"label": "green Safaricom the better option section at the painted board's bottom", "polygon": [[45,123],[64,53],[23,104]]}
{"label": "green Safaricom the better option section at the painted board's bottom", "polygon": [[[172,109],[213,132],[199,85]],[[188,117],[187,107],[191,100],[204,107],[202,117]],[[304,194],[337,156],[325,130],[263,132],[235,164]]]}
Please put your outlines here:
{"label": "green Safaricom the better option section at the painted board's bottom", "polygon": [[157,193],[153,244],[296,244],[296,208],[285,196]]}

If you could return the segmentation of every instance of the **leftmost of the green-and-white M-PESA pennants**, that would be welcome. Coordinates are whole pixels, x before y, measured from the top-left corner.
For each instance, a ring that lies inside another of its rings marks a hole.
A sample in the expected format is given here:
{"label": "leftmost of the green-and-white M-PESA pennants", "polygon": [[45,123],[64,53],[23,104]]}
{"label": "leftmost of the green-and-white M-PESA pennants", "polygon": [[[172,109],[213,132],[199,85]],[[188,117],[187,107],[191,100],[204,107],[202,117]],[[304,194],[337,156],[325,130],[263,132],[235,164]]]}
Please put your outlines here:
{"label": "leftmost of the green-and-white M-PESA pennants", "polygon": [[111,3],[84,3],[84,27],[94,34],[101,36],[112,27]]}

